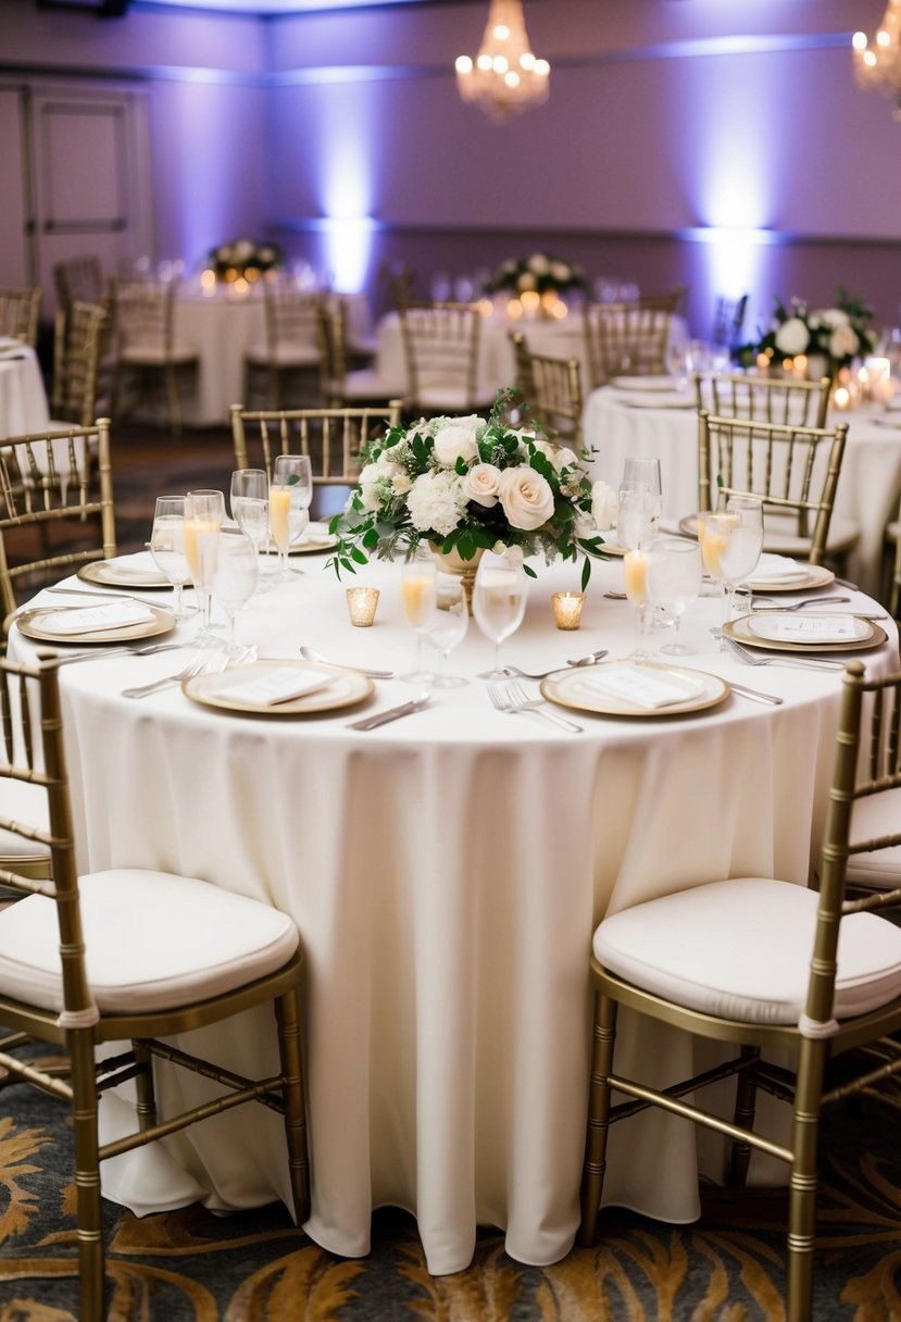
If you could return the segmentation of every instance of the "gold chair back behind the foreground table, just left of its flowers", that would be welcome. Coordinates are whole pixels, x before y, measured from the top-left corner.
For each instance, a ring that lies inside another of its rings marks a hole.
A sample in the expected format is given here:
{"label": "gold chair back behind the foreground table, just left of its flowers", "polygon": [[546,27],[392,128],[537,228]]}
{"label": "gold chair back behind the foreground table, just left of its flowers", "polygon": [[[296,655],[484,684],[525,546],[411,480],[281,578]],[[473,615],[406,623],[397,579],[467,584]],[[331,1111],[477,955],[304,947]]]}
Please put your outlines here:
{"label": "gold chair back behind the foreground table, just left of its flowers", "polygon": [[387,406],[263,412],[233,405],[235,468],[262,468],[271,481],[276,455],[309,455],[314,485],[351,486],[359,477],[362,447],[399,422],[399,399]]}

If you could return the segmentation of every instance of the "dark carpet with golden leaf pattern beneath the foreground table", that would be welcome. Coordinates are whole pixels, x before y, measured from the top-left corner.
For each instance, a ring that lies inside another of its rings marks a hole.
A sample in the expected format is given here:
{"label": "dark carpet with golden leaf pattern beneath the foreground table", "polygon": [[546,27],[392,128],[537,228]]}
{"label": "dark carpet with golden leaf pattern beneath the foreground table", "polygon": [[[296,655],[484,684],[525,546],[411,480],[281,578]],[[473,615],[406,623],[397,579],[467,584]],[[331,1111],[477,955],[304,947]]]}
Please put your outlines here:
{"label": "dark carpet with golden leaf pattern beneath the foreground table", "polygon": [[[815,1322],[901,1318],[901,1092],[836,1112],[823,1133]],[[855,1140],[865,1149],[859,1154]],[[0,1319],[78,1317],[65,1105],[0,1091]],[[383,1210],[373,1251],[317,1248],[280,1206],[136,1219],[104,1204],[110,1322],[779,1322],[785,1195],[708,1191],[672,1227],[612,1211],[601,1243],[523,1266],[485,1231],[473,1265],[429,1277],[414,1220]]]}

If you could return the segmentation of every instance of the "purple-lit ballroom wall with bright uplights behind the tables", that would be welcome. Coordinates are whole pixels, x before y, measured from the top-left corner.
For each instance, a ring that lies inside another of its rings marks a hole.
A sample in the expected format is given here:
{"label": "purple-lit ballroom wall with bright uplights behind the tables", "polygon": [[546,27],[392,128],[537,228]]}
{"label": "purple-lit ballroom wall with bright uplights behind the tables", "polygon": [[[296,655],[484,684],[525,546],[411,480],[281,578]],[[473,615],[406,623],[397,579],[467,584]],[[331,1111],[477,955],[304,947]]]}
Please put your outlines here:
{"label": "purple-lit ballroom wall with bright uplights behind the tables", "polygon": [[[839,283],[894,323],[901,123],[855,85],[849,50],[883,11],[526,0],[551,95],[503,124],[462,104],[452,73],[487,0],[270,20],[7,0],[0,77],[144,89],[160,258],[270,235],[341,286],[373,287],[387,255],[425,290],[543,247],[596,276],[687,286],[699,333],[720,291],[749,290],[753,323],[774,293],[824,303]],[[8,260],[0,279],[26,274]]]}

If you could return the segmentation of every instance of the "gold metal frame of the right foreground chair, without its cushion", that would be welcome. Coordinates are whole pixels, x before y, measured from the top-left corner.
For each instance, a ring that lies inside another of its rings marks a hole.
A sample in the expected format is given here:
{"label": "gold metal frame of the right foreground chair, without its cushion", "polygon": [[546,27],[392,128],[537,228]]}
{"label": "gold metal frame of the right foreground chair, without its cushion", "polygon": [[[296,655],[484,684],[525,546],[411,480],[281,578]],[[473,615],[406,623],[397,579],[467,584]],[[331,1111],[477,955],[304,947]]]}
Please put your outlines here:
{"label": "gold metal frame of the right foreground chair, without its cushion", "polygon": [[[819,911],[816,935],[810,958],[807,999],[801,1025],[766,1025],[740,1022],[687,1009],[675,1001],[653,994],[610,973],[592,957],[591,974],[595,988],[595,1030],[591,1099],[581,1185],[581,1225],[579,1241],[592,1244],[597,1228],[609,1128],[647,1107],[659,1107],[732,1140],[729,1183],[745,1182],[752,1149],[789,1163],[789,1235],[787,1235],[787,1322],[810,1322],[814,1268],[814,1232],[816,1215],[816,1141],[820,1110],[863,1092],[879,1080],[901,1072],[897,1044],[888,1043],[889,1034],[901,1027],[901,995],[867,1014],[843,1019],[832,1018],[836,976],[836,951],[842,919],[848,914],[876,910],[886,903],[885,895],[846,899],[846,867],[849,853],[901,843],[901,832],[851,847],[848,845],[851,806],[856,797],[873,791],[872,776],[880,767],[871,760],[869,771],[856,783],[857,752],[861,743],[861,707],[864,697],[873,695],[873,715],[868,735],[869,747],[888,748],[881,764],[877,788],[901,784],[898,763],[898,702],[901,673],[885,680],[867,680],[864,666],[856,661],[847,668],[842,717],[836,739],[835,771],[828,800],[828,817],[822,851]],[[886,731],[886,722],[889,730]],[[787,884],[787,883],[786,883]],[[893,892],[894,902],[901,891]],[[900,989],[901,990],[901,989]],[[729,1062],[692,1079],[657,1089],[614,1071],[616,1017],[620,1005],[716,1042],[739,1046]],[[791,1054],[794,1066],[785,1069],[762,1059],[761,1052],[782,1048]],[[827,1066],[855,1048],[864,1051],[864,1063],[849,1077],[846,1071],[832,1081]],[[733,1118],[723,1120],[705,1112],[691,1099],[698,1089],[736,1077]],[[754,1133],[756,1089],[789,1101],[793,1107],[791,1138],[774,1142]],[[625,1093],[630,1100],[610,1105],[610,1092]]]}

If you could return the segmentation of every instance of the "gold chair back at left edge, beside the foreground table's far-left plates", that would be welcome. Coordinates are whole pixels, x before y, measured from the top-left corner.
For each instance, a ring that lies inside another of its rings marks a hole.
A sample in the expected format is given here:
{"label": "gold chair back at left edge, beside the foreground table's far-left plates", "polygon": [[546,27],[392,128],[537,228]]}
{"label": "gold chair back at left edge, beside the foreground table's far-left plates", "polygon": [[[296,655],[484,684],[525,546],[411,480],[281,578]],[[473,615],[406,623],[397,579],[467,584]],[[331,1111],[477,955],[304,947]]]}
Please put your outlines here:
{"label": "gold chair back at left edge, beside the foreground table's far-left plates", "polygon": [[[96,489],[95,489],[96,486]],[[0,600],[116,554],[110,420],[0,440]]]}

